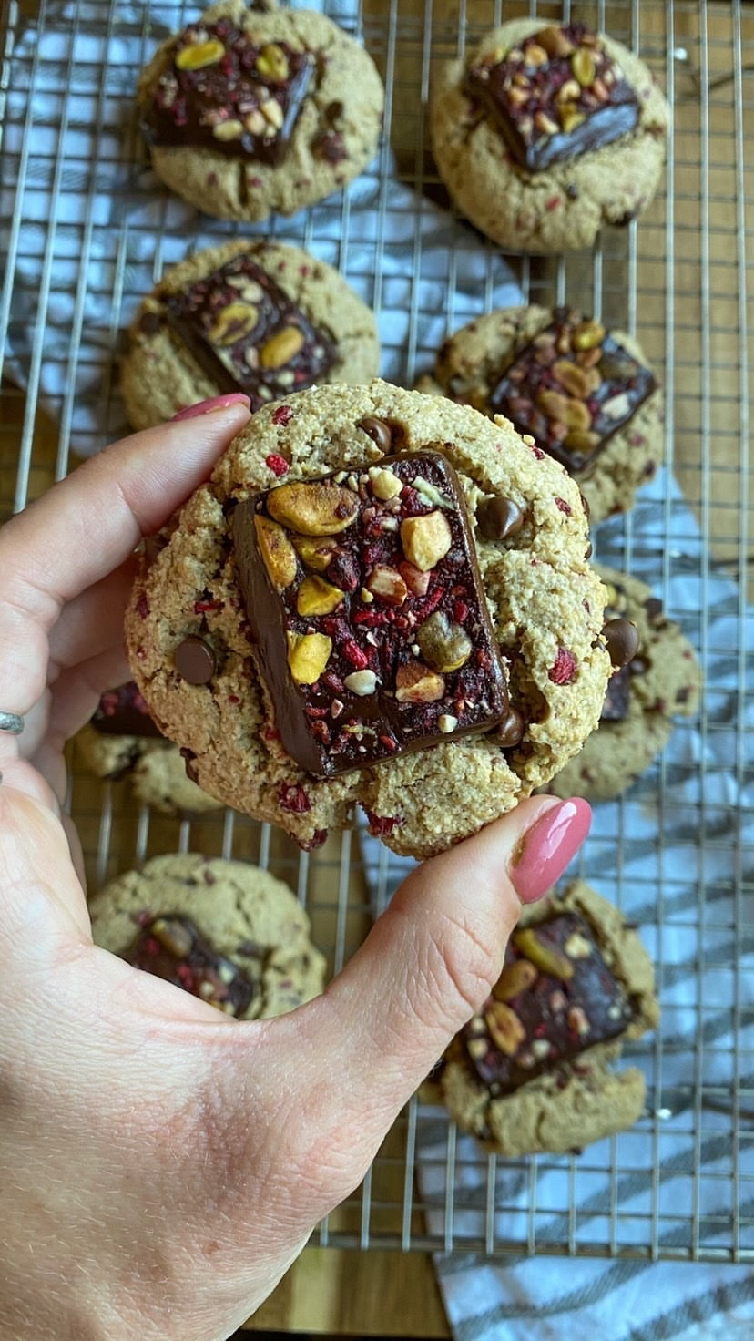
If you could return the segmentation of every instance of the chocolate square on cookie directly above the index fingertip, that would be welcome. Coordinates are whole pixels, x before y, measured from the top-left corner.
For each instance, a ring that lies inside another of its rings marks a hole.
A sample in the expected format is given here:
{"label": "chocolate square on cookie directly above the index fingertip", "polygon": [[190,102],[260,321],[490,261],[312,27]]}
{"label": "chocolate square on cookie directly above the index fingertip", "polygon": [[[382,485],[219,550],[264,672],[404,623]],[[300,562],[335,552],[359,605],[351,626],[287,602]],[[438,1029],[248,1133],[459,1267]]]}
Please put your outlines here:
{"label": "chocolate square on cookie directly above the index fingertip", "polygon": [[248,255],[168,295],[165,318],[217,388],[246,392],[252,410],[313,386],[335,362],[330,335]]}

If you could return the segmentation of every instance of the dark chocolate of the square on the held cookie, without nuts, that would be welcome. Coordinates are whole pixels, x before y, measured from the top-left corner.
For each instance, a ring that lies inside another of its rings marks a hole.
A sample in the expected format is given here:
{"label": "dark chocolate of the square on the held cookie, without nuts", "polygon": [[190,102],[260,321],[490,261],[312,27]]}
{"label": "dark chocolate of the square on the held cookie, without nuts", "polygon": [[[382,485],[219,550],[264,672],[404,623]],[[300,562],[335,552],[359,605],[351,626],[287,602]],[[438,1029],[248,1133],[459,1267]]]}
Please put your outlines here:
{"label": "dark chocolate of the square on the held cookie, without nuts", "polygon": [[[398,524],[405,516],[437,510],[412,487],[417,476],[439,488],[451,503],[441,510],[451,527],[451,550],[432,570],[427,591],[421,595],[408,591],[396,609],[378,597],[372,603],[364,603],[360,597],[373,567],[396,569],[404,562],[400,531],[382,530],[380,524],[394,514],[389,504],[373,496],[365,472],[358,476],[356,520],[333,536],[338,552],[321,574],[345,590],[341,605],[329,616],[297,613],[298,587],[306,574],[301,561],[295,581],[283,591],[278,591],[268,577],[254,527],[254,516],[264,512],[268,493],[239,504],[233,512],[239,581],[280,739],[291,758],[317,776],[364,768],[407,751],[490,731],[508,713],[506,677],[453,468],[439,452],[388,456],[380,465],[390,467],[404,481],[398,499],[402,515],[396,516]],[[323,483],[334,483],[333,476]],[[447,614],[463,628],[472,644],[471,654],[463,666],[444,675],[445,692],[439,701],[400,703],[392,695],[397,669],[424,660],[412,646],[416,646],[419,629],[435,611]],[[333,641],[327,666],[314,685],[299,685],[290,673],[288,632],[323,633]],[[374,670],[378,685],[376,692],[360,697],[345,688],[343,681],[362,668]],[[338,703],[342,708],[333,713]],[[443,715],[456,719],[452,734],[440,730]],[[360,732],[360,727],[364,731]]]}

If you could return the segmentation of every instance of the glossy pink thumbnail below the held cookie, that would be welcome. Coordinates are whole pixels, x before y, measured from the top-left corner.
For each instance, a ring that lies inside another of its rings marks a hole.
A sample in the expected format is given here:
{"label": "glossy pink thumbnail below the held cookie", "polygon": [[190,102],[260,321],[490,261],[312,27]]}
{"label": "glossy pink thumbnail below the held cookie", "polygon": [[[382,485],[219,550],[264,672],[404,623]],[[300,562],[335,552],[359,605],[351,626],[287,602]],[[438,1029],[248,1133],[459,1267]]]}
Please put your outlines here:
{"label": "glossy pink thumbnail below the held cookie", "polygon": [[574,797],[551,806],[517,843],[510,876],[522,904],[533,904],[553,888],[578,852],[592,825],[592,809]]}

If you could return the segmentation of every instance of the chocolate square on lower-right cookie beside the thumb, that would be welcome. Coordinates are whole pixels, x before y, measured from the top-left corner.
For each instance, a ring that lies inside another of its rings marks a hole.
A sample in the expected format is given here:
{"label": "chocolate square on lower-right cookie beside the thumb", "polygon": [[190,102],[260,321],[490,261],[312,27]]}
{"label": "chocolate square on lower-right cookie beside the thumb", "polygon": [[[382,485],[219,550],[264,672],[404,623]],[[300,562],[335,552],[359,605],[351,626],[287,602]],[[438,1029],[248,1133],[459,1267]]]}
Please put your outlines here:
{"label": "chocolate square on lower-right cookie beside the thumb", "polygon": [[625,1031],[627,992],[581,913],[514,932],[483,1011],[462,1033],[468,1065],[492,1094],[510,1094]]}

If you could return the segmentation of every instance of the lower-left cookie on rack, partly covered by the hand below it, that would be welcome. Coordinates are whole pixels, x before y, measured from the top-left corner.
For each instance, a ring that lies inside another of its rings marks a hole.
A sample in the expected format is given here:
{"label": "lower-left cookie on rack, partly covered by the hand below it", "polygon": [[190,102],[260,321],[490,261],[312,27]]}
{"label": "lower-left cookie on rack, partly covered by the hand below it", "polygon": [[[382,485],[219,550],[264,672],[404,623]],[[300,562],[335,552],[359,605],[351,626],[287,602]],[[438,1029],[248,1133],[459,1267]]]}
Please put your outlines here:
{"label": "lower-left cookie on rack, partly covered by the hand below it", "polygon": [[267,870],[217,857],[153,857],[90,900],[97,945],[227,1015],[268,1019],[325,984],[309,917]]}

